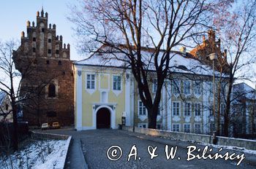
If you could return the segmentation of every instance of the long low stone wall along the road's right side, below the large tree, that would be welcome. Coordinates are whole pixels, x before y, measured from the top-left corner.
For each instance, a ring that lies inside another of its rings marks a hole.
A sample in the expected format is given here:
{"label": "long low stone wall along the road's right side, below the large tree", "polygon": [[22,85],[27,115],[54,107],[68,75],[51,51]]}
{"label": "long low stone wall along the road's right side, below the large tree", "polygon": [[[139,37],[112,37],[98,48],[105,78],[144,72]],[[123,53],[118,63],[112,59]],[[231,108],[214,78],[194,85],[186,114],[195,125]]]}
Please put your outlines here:
{"label": "long low stone wall along the road's right side, below the large tree", "polygon": [[[133,127],[122,126],[122,130],[133,131]],[[166,130],[155,130],[148,128],[135,127],[135,133],[142,133],[146,135],[153,135],[166,138],[174,138],[182,141],[195,141],[198,143],[212,144],[212,135],[202,135],[194,133],[180,133]],[[238,146],[244,147],[245,149],[256,150],[256,141],[246,140],[240,138],[226,138],[217,136],[217,145],[221,146]]]}

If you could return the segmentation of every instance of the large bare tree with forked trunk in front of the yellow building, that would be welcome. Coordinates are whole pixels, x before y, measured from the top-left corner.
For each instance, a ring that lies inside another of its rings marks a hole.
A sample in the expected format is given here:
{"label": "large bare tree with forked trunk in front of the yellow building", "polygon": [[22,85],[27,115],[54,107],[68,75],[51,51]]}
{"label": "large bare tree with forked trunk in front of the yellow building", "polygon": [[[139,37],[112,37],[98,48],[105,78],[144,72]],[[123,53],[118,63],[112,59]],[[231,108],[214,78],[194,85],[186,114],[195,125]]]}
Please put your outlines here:
{"label": "large bare tree with forked trunk in front of the yellow building", "polygon": [[[69,20],[77,25],[82,52],[108,52],[131,68],[140,99],[148,110],[148,127],[156,128],[171,51],[181,46],[192,47],[192,40],[211,23],[212,9],[218,4],[219,1],[208,0],[83,1],[81,7],[71,7]],[[143,54],[145,46],[151,47],[149,55]],[[149,90],[152,70],[157,76],[154,98]]]}

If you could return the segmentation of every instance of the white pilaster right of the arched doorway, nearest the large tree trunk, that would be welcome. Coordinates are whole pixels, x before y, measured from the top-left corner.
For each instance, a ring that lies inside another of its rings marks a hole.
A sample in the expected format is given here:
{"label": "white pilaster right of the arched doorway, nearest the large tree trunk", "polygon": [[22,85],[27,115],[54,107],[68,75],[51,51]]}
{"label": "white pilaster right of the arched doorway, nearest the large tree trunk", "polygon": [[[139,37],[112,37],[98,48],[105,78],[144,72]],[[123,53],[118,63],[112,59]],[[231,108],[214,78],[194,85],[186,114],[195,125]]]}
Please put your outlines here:
{"label": "white pilaster right of the arched doorway, nearest the large tree trunk", "polygon": [[131,106],[131,93],[130,93],[130,87],[131,87],[131,75],[130,74],[126,74],[126,79],[125,79],[125,125],[130,126],[131,125],[131,110],[130,110],[130,106]]}

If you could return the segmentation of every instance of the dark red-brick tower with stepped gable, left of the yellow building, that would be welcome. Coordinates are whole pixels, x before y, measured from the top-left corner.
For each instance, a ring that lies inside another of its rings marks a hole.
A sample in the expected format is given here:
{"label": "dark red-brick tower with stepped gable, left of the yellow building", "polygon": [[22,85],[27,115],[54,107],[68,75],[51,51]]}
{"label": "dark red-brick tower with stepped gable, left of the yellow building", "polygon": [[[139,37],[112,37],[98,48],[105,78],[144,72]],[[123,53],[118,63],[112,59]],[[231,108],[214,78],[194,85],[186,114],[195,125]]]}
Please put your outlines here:
{"label": "dark red-brick tower with stepped gable, left of the yellow building", "polygon": [[27,36],[13,51],[15,67],[23,76],[20,98],[23,120],[29,125],[45,122],[74,124],[74,77],[70,46],[48,25],[48,13],[37,12],[37,25],[27,21]]}

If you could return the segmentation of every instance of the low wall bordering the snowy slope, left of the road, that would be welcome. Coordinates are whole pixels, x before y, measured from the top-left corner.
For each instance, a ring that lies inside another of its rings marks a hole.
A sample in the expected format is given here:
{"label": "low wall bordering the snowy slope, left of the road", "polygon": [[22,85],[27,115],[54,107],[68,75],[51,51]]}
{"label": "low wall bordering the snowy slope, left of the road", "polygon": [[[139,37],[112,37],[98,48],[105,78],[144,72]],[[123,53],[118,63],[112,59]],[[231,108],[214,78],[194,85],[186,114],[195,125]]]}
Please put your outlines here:
{"label": "low wall bordering the snowy slope, left of the road", "polygon": [[[67,143],[65,145],[65,154],[60,157],[61,161],[64,161],[60,169],[64,169],[64,165],[67,160],[67,152],[69,150],[70,141],[72,139],[72,136],[69,135],[59,135],[59,134],[50,134],[50,133],[37,133],[32,131],[31,132],[31,138],[48,138],[48,139],[54,139],[54,140],[67,140]],[[63,159],[63,160],[62,160]]]}

